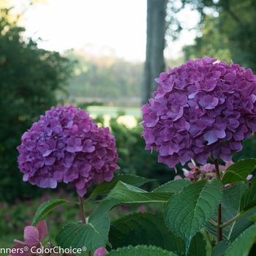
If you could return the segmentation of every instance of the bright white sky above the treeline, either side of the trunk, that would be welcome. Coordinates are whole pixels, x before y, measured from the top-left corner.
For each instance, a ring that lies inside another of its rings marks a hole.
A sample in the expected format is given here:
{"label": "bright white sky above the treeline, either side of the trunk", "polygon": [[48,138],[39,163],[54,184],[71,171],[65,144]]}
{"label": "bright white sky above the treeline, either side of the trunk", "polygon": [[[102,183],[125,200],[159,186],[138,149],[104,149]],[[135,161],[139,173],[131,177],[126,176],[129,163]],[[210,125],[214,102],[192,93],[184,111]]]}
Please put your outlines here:
{"label": "bright white sky above the treeline, either side of the trunk", "polygon": [[[39,48],[59,52],[84,48],[97,54],[114,52],[127,61],[146,59],[146,0],[45,0],[48,4],[34,6],[27,0],[12,2],[27,8],[23,26],[27,37],[42,39]],[[167,58],[177,58],[181,46],[193,42],[194,36],[183,37],[167,45]]]}

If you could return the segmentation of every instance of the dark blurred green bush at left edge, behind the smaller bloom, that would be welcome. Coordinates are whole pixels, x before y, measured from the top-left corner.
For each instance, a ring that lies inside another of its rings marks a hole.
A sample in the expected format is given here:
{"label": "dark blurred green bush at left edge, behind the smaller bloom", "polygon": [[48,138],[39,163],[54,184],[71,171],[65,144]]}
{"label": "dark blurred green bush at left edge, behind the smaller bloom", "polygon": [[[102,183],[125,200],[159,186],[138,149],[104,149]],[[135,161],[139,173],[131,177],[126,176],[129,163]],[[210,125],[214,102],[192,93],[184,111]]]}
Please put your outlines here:
{"label": "dark blurred green bush at left edge, behind the smaller bloom", "polygon": [[16,147],[31,124],[57,105],[56,94],[63,94],[72,72],[71,61],[23,38],[24,29],[18,18],[10,21],[9,12],[1,9],[0,15],[0,201],[39,191],[22,181]]}

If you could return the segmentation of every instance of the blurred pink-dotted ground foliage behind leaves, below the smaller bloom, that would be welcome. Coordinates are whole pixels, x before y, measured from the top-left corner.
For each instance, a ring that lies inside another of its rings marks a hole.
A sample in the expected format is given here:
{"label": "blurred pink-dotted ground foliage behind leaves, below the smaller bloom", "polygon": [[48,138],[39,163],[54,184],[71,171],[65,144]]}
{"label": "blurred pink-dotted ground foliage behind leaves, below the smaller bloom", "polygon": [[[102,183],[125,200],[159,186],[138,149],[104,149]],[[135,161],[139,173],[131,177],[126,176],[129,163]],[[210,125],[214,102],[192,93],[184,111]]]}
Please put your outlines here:
{"label": "blurred pink-dotted ground foliage behind leaves, below the smaller bloom", "polygon": [[[12,248],[15,246],[14,239],[24,241],[23,233],[24,228],[31,225],[37,208],[44,202],[53,199],[69,200],[70,203],[63,203],[57,206],[52,211],[48,212],[43,219],[46,220],[48,225],[48,236],[45,238],[43,244],[50,241],[56,244],[55,237],[61,227],[72,222],[80,221],[80,209],[78,196],[70,190],[65,192],[63,189],[55,189],[51,192],[45,192],[41,197],[34,198],[33,200],[21,201],[17,198],[13,203],[0,203],[0,230],[4,236],[1,236],[0,248]],[[98,202],[94,199],[84,203],[84,211],[86,217],[89,217],[92,211],[97,207]],[[152,211],[156,212],[161,209],[161,204],[151,203],[146,205],[123,205],[113,208],[109,217],[111,220],[119,219],[132,212]],[[7,254],[1,254],[4,256]],[[83,255],[83,254],[82,254]]]}

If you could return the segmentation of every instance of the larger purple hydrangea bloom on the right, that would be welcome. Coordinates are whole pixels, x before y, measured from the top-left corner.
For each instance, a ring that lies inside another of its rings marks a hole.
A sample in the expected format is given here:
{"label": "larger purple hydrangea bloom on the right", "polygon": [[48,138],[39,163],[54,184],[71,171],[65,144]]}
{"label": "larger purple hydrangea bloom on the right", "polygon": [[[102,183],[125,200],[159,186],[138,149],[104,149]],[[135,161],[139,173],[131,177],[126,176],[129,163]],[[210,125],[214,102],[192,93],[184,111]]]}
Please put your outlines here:
{"label": "larger purple hydrangea bloom on the right", "polygon": [[212,154],[225,161],[256,132],[256,76],[251,69],[217,59],[189,60],[161,73],[153,99],[143,105],[146,149],[174,167]]}

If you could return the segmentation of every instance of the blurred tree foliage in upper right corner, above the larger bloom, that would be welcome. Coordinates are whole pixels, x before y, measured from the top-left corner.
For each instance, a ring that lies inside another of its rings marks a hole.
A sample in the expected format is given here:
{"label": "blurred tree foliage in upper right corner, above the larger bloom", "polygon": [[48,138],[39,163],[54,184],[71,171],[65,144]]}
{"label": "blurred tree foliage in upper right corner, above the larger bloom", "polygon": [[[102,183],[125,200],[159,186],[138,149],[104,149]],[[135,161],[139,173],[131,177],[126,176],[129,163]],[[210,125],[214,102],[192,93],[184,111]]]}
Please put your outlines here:
{"label": "blurred tree foliage in upper right corner, above the larger bloom", "polygon": [[233,60],[256,72],[255,0],[182,0],[200,12],[195,45],[184,48],[185,59],[216,57]]}

